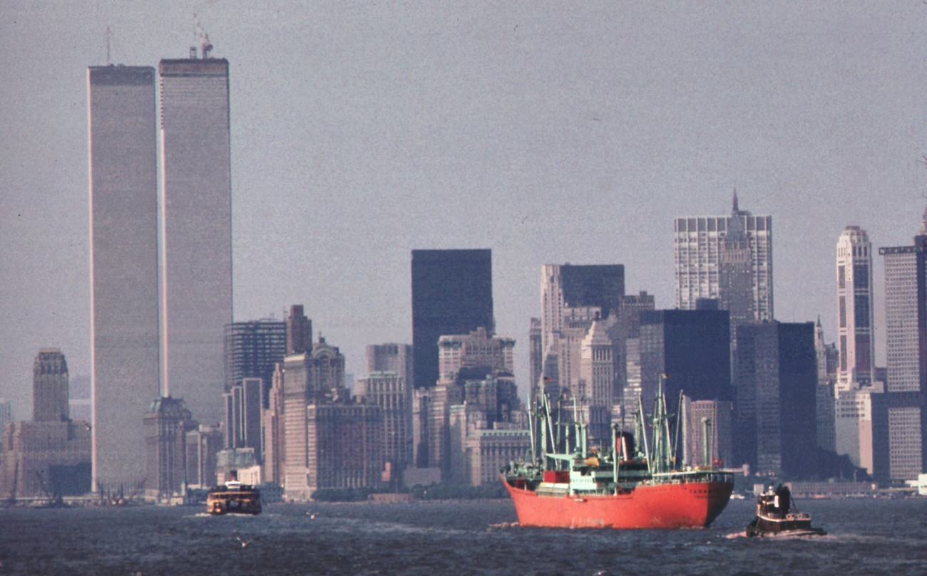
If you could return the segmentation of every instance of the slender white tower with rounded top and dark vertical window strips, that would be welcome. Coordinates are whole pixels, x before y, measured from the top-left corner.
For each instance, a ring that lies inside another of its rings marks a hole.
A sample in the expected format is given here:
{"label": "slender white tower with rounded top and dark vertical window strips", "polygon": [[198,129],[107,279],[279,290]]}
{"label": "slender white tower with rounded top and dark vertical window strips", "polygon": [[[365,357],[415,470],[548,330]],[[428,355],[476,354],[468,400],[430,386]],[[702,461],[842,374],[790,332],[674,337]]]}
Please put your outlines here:
{"label": "slender white tower with rounded top and dark vertical window strips", "polygon": [[872,244],[865,230],[847,226],[837,240],[838,391],[872,382]]}

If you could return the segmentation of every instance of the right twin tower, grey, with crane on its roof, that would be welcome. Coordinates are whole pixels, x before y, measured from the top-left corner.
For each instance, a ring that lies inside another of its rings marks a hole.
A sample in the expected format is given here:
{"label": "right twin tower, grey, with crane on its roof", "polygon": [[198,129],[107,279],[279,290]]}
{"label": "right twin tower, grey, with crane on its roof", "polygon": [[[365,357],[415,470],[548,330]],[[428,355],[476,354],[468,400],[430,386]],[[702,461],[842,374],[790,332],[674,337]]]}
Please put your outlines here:
{"label": "right twin tower, grey, with crane on its roof", "polygon": [[161,60],[164,378],[194,418],[222,419],[222,329],[232,321],[229,63]]}

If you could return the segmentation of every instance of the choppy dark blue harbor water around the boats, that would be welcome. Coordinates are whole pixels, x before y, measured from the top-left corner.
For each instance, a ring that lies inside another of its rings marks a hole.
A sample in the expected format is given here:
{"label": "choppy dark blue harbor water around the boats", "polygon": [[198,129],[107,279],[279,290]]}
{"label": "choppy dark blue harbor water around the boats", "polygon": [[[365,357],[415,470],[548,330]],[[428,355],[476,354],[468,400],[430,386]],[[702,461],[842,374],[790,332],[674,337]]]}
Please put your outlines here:
{"label": "choppy dark blue harbor water around the boats", "polygon": [[0,510],[0,575],[927,574],[927,499],[798,504],[829,535],[745,538],[750,501],[732,501],[709,529],[672,532],[511,527],[504,500],[277,505],[222,518],[14,508]]}

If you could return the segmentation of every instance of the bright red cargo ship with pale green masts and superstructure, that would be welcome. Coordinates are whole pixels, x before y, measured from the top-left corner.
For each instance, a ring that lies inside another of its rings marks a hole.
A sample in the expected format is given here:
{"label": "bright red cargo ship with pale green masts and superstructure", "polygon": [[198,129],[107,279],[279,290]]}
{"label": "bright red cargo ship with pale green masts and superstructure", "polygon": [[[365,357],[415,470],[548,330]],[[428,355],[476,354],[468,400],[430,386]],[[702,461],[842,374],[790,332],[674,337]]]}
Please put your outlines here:
{"label": "bright red cargo ship with pale green masts and superstructure", "polygon": [[[669,439],[662,383],[654,405],[653,442],[648,443],[641,407],[635,429],[636,436],[643,439],[643,449],[635,450],[634,436],[618,432],[613,424],[612,444],[616,447],[600,455],[597,449],[588,449],[588,426],[577,421],[554,422],[550,403],[541,396],[538,409],[532,411],[531,430],[532,453],[537,454],[540,444],[543,457],[512,463],[502,470],[519,525],[613,529],[710,525],[728,505],[733,474],[719,470],[717,461],[709,460],[710,442],[704,443],[704,460],[709,466],[677,468],[674,455],[678,446]],[[703,420],[704,438],[711,437],[709,425]],[[577,439],[572,449],[571,431]],[[676,438],[678,443],[679,430]],[[548,445],[560,445],[564,450],[548,452]]]}

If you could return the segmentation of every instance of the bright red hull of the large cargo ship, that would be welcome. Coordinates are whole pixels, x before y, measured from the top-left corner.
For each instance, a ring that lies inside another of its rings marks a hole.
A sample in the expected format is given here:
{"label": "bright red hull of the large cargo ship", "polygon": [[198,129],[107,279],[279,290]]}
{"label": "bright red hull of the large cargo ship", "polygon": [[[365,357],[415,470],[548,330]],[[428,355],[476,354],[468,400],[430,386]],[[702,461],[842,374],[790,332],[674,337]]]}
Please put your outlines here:
{"label": "bright red hull of the large cargo ship", "polygon": [[704,528],[724,510],[731,482],[641,485],[620,495],[538,495],[505,487],[518,524],[540,528]]}

